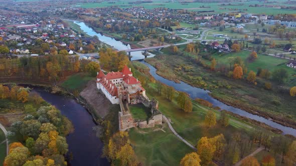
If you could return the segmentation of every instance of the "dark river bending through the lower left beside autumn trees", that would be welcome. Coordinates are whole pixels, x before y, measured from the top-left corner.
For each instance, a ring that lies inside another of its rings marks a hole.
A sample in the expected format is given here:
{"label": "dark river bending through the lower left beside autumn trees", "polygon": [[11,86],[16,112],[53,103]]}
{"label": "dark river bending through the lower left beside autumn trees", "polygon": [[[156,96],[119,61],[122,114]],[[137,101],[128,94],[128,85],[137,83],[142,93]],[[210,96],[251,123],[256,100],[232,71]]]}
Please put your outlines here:
{"label": "dark river bending through the lower left beside autumn trees", "polygon": [[67,96],[52,94],[41,87],[33,87],[43,99],[56,106],[63,115],[68,117],[73,125],[74,132],[66,136],[69,144],[69,153],[73,159],[69,165],[110,165],[106,158],[101,158],[103,142],[96,136],[93,127],[96,126],[88,111],[74,99]]}

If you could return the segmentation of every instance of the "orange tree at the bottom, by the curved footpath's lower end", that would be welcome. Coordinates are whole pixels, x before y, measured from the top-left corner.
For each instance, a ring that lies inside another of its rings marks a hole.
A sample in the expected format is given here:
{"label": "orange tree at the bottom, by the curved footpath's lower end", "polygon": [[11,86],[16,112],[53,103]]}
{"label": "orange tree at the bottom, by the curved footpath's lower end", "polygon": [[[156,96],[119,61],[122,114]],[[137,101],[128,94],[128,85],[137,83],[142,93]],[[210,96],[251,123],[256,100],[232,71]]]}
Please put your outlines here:
{"label": "orange tree at the bottom, by the curved footpath's lower end", "polygon": [[197,153],[200,156],[201,164],[207,165],[212,161],[215,152],[215,145],[207,137],[202,137],[197,142]]}

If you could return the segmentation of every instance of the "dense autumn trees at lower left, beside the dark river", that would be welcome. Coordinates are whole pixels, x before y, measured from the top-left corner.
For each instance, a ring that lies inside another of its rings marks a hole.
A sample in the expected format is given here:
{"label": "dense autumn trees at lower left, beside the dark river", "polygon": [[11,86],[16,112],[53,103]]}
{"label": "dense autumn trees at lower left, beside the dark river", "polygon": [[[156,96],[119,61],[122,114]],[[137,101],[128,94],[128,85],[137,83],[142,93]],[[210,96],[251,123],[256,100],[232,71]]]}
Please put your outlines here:
{"label": "dense autumn trees at lower left, beside the dark river", "polygon": [[4,165],[67,165],[65,136],[71,121],[30,88],[0,85],[1,123],[9,126],[9,154]]}

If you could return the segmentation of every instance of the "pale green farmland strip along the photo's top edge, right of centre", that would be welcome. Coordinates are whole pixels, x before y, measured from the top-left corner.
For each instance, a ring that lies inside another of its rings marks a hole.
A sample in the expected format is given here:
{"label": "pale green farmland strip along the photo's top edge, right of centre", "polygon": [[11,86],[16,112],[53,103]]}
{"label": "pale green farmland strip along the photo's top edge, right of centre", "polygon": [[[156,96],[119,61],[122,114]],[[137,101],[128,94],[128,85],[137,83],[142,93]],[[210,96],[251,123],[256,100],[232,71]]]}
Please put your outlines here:
{"label": "pale green farmland strip along the photo's top edge, right of centre", "polygon": [[[128,0],[134,1],[134,0]],[[148,9],[158,8],[158,7],[166,7],[172,9],[188,9],[191,11],[203,11],[203,10],[215,10],[216,13],[222,12],[233,12],[242,9],[247,9],[246,12],[251,13],[266,13],[266,14],[278,14],[278,13],[294,13],[293,10],[290,9],[280,9],[280,8],[271,8],[271,7],[249,7],[250,4],[262,4],[259,1],[249,1],[249,2],[231,2],[233,5],[220,6],[220,3],[201,3],[201,2],[193,2],[193,3],[180,3],[180,2],[164,2],[162,0],[154,0],[153,3],[142,3],[142,4],[128,4],[128,1],[117,1],[115,3],[108,3],[107,1],[103,1],[100,3],[78,3],[76,5],[80,5],[84,8],[93,8],[93,7],[107,7],[107,6],[119,6],[122,8],[133,7],[133,6],[143,6]],[[282,5],[283,0],[277,1],[277,3]],[[239,3],[243,3],[243,5],[238,5]],[[200,8],[200,6],[205,6],[209,8]],[[288,4],[286,4],[288,5]],[[226,7],[226,9],[225,9]],[[236,8],[237,10],[228,10],[227,8]]]}

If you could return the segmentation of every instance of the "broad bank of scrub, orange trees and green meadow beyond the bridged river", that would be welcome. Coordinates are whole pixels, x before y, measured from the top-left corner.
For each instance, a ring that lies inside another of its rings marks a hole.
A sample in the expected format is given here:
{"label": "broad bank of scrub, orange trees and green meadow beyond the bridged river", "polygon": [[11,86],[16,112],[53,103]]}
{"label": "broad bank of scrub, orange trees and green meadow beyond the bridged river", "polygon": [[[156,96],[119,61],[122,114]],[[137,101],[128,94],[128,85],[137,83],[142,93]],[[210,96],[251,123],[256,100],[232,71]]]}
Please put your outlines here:
{"label": "broad bank of scrub, orange trees and green meadow beyond the bridged river", "polygon": [[211,95],[224,103],[296,127],[296,105],[289,94],[290,85],[295,85],[295,71],[286,67],[288,60],[262,54],[252,59],[252,52],[244,50],[220,53],[198,43],[163,51],[165,54],[146,59],[158,74],[210,89]]}

